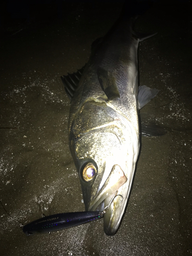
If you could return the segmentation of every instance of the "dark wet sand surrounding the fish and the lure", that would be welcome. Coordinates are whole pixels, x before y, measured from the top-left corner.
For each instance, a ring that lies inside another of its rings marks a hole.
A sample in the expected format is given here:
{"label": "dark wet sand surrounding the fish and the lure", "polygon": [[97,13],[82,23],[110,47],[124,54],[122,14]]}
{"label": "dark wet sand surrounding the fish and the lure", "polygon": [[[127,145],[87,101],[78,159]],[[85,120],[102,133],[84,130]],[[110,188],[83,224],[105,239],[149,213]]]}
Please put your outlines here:
{"label": "dark wet sand surrounding the fish and the lure", "polygon": [[[88,61],[92,42],[117,19],[122,4],[63,4],[1,41],[0,199],[27,224],[83,211],[68,144],[70,100],[60,76]],[[159,90],[141,112],[167,134],[142,137],[123,221],[108,237],[103,220],[27,237],[0,205],[1,255],[192,255],[191,18],[189,5],[154,5],[136,31],[158,32],[139,46],[140,84]],[[163,15],[162,15],[163,14]],[[22,25],[21,25],[22,26]]]}

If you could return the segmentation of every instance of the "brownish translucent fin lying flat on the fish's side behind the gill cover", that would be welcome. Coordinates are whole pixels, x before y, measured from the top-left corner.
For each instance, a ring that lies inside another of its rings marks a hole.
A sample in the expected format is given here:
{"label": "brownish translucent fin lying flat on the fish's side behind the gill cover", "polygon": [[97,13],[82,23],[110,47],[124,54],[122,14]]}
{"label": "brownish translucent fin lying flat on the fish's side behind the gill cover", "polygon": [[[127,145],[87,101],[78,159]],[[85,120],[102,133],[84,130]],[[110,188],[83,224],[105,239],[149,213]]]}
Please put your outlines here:
{"label": "brownish translucent fin lying flat on the fish's side behind the gill cover", "polygon": [[103,92],[109,100],[120,98],[115,77],[111,72],[106,71],[103,68],[98,68],[97,77]]}

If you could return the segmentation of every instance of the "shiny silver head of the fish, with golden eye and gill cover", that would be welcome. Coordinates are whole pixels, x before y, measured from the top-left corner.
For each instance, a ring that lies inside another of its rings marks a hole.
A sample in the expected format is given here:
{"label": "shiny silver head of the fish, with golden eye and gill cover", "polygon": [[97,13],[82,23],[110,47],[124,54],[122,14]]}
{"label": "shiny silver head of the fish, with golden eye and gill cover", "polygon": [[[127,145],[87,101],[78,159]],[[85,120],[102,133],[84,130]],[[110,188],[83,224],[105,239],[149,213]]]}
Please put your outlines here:
{"label": "shiny silver head of the fish, with golden eye and gill cover", "polygon": [[104,118],[98,121],[98,109],[90,111],[92,106],[89,105],[89,112],[86,112],[86,107],[88,105],[73,123],[71,153],[86,210],[103,211],[104,231],[113,235],[130,195],[139,140],[132,125],[125,125],[112,110],[108,115],[103,113],[106,110],[99,111]]}

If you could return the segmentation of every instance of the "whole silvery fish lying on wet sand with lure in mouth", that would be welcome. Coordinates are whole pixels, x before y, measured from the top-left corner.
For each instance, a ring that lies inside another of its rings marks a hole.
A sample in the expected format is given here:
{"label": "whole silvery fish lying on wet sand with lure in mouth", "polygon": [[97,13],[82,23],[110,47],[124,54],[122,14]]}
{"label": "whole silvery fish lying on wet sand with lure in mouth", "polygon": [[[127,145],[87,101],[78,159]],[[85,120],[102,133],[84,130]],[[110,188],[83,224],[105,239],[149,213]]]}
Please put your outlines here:
{"label": "whole silvery fish lying on wet sand with lure in mouth", "polygon": [[85,209],[110,205],[103,216],[108,236],[117,232],[131,194],[140,151],[139,110],[158,93],[138,82],[139,42],[156,34],[134,30],[142,12],[135,1],[125,4],[109,32],[93,42],[86,66],[61,76],[71,99],[69,146]]}

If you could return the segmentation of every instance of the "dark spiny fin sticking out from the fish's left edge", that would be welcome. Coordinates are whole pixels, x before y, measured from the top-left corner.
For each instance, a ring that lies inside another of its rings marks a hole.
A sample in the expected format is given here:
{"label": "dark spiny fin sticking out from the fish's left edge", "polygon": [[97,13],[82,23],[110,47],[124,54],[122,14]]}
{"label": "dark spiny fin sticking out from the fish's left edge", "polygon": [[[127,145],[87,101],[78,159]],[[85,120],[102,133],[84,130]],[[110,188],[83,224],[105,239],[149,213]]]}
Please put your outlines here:
{"label": "dark spiny fin sticking out from the fish's left edge", "polygon": [[68,73],[67,76],[65,76],[65,75],[61,76],[61,80],[64,84],[66,93],[70,99],[73,98],[75,90],[78,87],[79,80],[84,71],[84,67],[86,67],[86,65],[84,65],[81,69],[77,70],[77,72],[75,72],[73,74]]}

